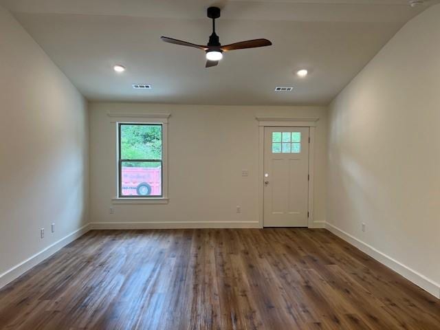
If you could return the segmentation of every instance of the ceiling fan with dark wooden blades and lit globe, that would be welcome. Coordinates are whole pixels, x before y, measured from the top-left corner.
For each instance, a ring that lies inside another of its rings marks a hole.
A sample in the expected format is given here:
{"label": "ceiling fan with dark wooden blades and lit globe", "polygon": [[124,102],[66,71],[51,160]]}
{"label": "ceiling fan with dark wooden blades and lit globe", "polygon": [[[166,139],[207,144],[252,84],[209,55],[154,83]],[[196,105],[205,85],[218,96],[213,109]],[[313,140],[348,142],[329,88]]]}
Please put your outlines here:
{"label": "ceiling fan with dark wooden blades and lit globe", "polygon": [[208,45],[196,45],[194,43],[188,43],[186,41],[181,41],[173,38],[168,38],[167,36],[161,36],[160,39],[166,43],[174,43],[175,45],[195,47],[199,50],[206,52],[206,66],[214,67],[219,64],[221,58],[223,58],[224,52],[229,52],[230,50],[244,50],[246,48],[256,48],[270,46],[272,43],[267,39],[254,39],[248,41],[241,41],[239,43],[231,43],[230,45],[222,46],[219,41],[219,36],[215,33],[215,19],[220,17],[220,8],[210,7],[208,8],[208,17],[212,19],[212,34],[209,37]]}

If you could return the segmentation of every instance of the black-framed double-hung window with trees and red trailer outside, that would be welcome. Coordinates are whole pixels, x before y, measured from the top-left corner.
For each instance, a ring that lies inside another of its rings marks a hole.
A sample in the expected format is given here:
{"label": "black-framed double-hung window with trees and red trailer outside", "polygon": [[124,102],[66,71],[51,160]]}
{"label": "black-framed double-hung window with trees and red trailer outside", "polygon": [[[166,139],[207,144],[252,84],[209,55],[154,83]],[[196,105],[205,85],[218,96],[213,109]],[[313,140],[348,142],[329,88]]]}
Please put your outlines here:
{"label": "black-framed double-hung window with trees and red trailer outside", "polygon": [[164,125],[118,123],[118,197],[164,197]]}

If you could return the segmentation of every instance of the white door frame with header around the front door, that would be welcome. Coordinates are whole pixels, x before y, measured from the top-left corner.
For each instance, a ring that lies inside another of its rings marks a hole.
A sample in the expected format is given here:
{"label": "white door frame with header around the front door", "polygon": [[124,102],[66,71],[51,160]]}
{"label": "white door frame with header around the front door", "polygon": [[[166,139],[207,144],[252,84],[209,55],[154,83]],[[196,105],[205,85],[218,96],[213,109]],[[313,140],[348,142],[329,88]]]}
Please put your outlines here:
{"label": "white door frame with header around the front door", "polygon": [[259,121],[259,226],[264,227],[264,130],[265,127],[309,127],[309,196],[307,228],[314,228],[314,146],[319,118],[256,116]]}

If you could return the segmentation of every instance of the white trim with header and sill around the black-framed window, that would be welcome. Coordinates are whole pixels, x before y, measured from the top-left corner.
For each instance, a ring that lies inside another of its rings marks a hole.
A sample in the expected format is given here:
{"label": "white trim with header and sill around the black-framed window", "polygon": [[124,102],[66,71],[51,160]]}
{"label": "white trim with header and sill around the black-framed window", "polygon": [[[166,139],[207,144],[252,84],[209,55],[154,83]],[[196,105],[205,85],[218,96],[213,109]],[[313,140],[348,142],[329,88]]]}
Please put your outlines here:
{"label": "white trim with header and sill around the black-framed window", "polygon": [[[169,113],[107,113],[116,129],[116,197],[111,199],[112,204],[167,204],[168,203],[168,118]],[[162,197],[119,197],[119,164],[118,164],[118,124],[162,124]]]}

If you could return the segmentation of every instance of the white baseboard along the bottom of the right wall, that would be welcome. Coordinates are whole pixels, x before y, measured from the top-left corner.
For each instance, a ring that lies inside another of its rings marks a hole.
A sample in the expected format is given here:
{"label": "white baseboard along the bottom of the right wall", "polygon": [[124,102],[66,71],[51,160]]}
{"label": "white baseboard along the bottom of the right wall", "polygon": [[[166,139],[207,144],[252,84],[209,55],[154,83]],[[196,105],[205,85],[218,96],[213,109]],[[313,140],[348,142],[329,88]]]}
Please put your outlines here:
{"label": "white baseboard along the bottom of the right wall", "polygon": [[356,248],[368,254],[383,265],[386,265],[386,267],[389,267],[401,276],[404,276],[404,278],[406,278],[408,281],[411,281],[415,285],[418,285],[426,292],[432,294],[432,296],[440,299],[440,285],[432,281],[430,278],[427,278],[419,272],[412,270],[410,267],[399,263],[399,261],[391,258],[391,256],[387,256],[383,252],[376,250],[371,245],[360,241],[360,239],[355,238],[355,236],[352,236],[347,232],[344,232],[344,230],[341,230],[331,223],[325,223],[325,228],[336,236],[343,239],[344,241],[347,241],[351,245],[354,245]]}

